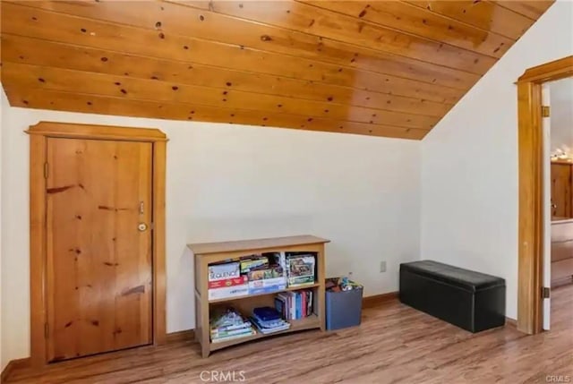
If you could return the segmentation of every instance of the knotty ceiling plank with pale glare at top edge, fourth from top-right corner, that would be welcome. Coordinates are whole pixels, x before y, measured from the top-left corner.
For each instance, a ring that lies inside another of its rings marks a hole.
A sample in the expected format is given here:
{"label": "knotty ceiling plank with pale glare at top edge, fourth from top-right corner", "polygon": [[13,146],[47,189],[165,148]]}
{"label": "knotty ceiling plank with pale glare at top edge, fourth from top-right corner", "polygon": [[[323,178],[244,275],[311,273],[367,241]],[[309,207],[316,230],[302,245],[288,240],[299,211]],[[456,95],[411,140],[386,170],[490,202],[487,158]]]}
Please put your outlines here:
{"label": "knotty ceiling plank with pale glare at top edge, fourth from top-right corner", "polygon": [[469,73],[483,74],[496,61],[490,56],[383,28],[310,4],[294,1],[212,1],[209,6],[218,13],[233,14],[248,20],[301,30],[312,35],[403,55]]}

